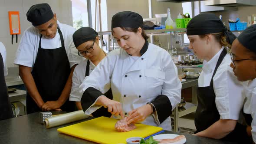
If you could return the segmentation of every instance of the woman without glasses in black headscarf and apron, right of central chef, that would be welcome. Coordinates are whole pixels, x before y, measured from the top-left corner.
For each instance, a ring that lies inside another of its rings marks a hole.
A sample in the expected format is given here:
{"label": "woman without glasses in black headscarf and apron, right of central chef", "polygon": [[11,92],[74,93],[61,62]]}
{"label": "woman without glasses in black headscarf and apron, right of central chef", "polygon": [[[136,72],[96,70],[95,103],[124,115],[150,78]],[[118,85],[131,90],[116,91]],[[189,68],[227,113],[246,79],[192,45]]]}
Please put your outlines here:
{"label": "woman without glasses in black headscarf and apron, right of central chef", "polygon": [[187,25],[189,49],[204,59],[198,78],[195,135],[246,143],[246,127],[238,123],[243,106],[243,85],[229,66],[230,47],[236,36],[212,13],[195,16]]}

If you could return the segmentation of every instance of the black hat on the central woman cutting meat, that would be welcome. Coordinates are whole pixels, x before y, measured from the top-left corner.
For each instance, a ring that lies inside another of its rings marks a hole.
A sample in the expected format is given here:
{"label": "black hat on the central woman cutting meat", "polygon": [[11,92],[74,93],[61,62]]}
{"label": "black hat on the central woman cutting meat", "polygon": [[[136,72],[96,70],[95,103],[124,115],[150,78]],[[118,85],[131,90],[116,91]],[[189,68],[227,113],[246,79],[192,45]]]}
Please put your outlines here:
{"label": "black hat on the central woman cutting meat", "polygon": [[135,12],[119,12],[112,17],[111,29],[115,27],[143,28],[143,18]]}

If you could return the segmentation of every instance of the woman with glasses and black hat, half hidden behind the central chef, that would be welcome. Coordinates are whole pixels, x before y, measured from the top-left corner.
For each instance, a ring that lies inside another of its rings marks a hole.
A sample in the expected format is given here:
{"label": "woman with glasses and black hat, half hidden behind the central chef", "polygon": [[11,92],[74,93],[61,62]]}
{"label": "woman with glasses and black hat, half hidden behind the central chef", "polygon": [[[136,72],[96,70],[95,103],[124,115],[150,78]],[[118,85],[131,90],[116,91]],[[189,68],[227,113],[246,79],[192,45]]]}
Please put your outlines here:
{"label": "woman with glasses and black hat, half hidden behind the central chef", "polygon": [[[86,76],[89,76],[92,70],[98,65],[102,59],[107,55],[99,46],[98,33],[90,27],[82,27],[75,31],[73,34],[73,42],[78,55],[84,57],[79,65],[75,67],[72,77],[72,88],[69,96],[70,101],[75,101],[78,110],[82,110],[81,98],[82,94],[79,93],[79,86],[82,84]],[[112,99],[111,89],[105,93],[105,96]],[[110,117],[111,113],[104,107],[99,108],[92,113],[92,116],[106,116]]]}

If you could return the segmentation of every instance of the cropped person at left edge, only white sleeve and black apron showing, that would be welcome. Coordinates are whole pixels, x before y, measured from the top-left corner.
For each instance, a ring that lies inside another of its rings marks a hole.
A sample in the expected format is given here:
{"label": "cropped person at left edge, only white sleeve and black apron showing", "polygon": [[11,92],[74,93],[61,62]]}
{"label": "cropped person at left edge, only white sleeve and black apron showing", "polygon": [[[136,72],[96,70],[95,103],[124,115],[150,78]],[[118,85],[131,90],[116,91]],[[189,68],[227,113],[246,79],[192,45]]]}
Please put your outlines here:
{"label": "cropped person at left edge, only white sleeve and black apron showing", "polygon": [[0,121],[13,118],[10,98],[7,93],[7,86],[4,76],[8,74],[6,65],[6,49],[0,42]]}

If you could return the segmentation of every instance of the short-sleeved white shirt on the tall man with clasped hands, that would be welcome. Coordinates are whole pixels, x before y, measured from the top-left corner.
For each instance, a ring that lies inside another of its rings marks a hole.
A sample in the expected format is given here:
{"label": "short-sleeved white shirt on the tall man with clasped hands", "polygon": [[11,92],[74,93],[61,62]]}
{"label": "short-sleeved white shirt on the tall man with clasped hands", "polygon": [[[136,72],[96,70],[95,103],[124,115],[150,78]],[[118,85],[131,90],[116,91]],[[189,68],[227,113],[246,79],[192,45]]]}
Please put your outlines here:
{"label": "short-sleeved white shirt on the tall man with clasped hands", "polygon": [[[78,56],[78,50],[75,48],[72,39],[75,28],[59,23],[59,21],[57,21],[57,24],[63,35],[64,45],[71,68],[73,65],[78,64],[82,60],[82,57]],[[14,64],[33,68],[38,52],[39,40],[40,33],[38,29],[36,29],[34,26],[30,26],[28,29],[26,29],[21,37]],[[42,36],[41,47],[42,49],[56,49],[61,47],[59,33],[57,32],[53,39]]]}

